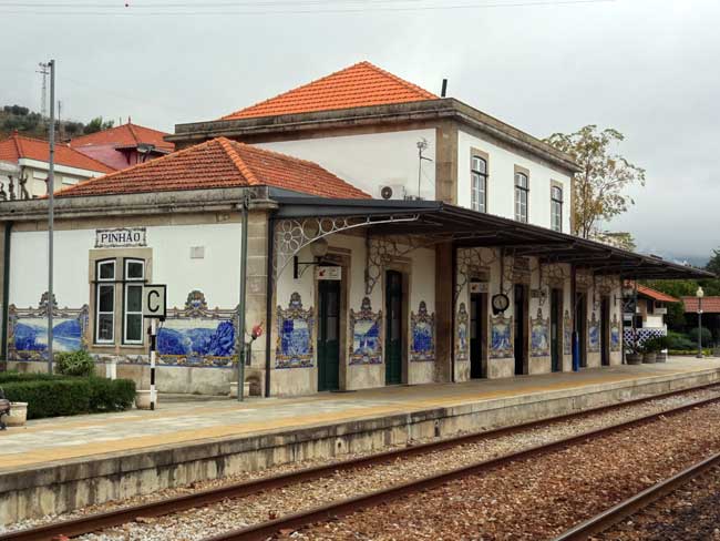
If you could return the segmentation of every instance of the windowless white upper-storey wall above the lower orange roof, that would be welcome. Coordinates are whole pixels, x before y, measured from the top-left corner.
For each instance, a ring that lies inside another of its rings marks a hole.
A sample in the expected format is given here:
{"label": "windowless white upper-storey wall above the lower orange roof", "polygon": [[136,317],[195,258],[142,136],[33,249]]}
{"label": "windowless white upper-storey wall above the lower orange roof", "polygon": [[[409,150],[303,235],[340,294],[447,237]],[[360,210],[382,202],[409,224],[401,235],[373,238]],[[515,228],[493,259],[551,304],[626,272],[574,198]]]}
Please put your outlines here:
{"label": "windowless white upper-storey wall above the lower orange roof", "polygon": [[284,141],[260,143],[257,146],[317,162],[379,198],[380,186],[395,184],[405,186],[408,195],[418,195],[418,142],[422,139],[429,143],[423,156],[433,162],[423,161],[420,195],[425,200],[434,200],[434,130]]}

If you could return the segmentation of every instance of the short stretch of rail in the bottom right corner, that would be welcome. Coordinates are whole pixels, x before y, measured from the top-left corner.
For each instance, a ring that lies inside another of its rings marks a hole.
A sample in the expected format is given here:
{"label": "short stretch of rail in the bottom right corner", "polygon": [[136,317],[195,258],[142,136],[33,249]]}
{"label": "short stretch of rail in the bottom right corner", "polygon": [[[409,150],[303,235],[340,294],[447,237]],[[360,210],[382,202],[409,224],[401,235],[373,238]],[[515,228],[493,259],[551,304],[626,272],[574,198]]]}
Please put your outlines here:
{"label": "short stretch of rail in the bottom right corner", "polygon": [[648,507],[650,503],[676,491],[688,481],[706,473],[719,465],[720,452],[712,455],[711,457],[706,458],[700,462],[696,462],[679,473],[676,473],[668,479],[648,487],[641,492],[638,492],[627,500],[621,501],[617,506],[606,509],[592,519],[574,525],[569,530],[563,532],[560,535],[554,538],[553,541],[584,541],[586,539],[589,539],[590,535],[601,533],[620,522],[623,519],[637,513],[638,511]]}

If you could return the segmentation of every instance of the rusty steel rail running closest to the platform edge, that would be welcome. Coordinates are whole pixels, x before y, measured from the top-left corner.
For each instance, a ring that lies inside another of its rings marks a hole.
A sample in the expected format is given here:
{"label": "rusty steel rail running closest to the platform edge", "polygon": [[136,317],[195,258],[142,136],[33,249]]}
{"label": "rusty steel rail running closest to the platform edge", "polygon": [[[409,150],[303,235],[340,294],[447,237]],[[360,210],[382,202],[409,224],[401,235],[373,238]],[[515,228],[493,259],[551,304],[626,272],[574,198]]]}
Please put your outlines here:
{"label": "rusty steel rail running closest to the platform edge", "polygon": [[[564,414],[557,417],[533,420],[520,425],[513,425],[508,427],[502,427],[502,428],[485,430],[481,432],[472,432],[462,436],[455,436],[452,438],[431,441],[428,443],[420,443],[416,446],[392,449],[389,451],[382,451],[382,452],[368,455],[364,457],[358,457],[349,460],[343,460],[335,463],[321,465],[312,468],[305,468],[297,471],[290,471],[287,473],[268,476],[265,478],[255,479],[250,481],[243,481],[238,483],[227,484],[225,487],[207,489],[192,494],[172,497],[160,501],[141,503],[137,506],[120,508],[112,511],[105,511],[101,513],[90,514],[86,517],[80,517],[76,519],[71,519],[71,520],[65,520],[60,522],[53,522],[50,524],[40,525],[35,528],[29,528],[24,530],[8,532],[8,533],[1,533],[0,541],[10,541],[10,540],[51,541],[54,537],[58,535],[65,535],[71,538],[78,537],[85,533],[103,530],[106,528],[124,524],[127,522],[133,522],[138,518],[161,517],[164,514],[175,513],[187,509],[199,508],[226,499],[243,498],[261,491],[286,487],[288,484],[310,481],[322,477],[329,477],[336,473],[337,471],[349,471],[366,466],[389,462],[398,458],[410,458],[419,455],[426,455],[438,450],[459,447],[465,443],[470,443],[483,439],[497,438],[501,436],[522,432],[525,430],[554,425],[557,422],[564,422],[570,419],[582,418],[594,414],[613,411],[616,409],[621,409],[628,406],[634,406],[642,402],[661,400],[664,398],[668,398],[671,396],[686,395],[686,394],[696,392],[703,389],[709,389],[712,387],[719,387],[719,385],[720,384],[718,382],[712,382],[712,384],[706,384],[697,387],[691,387],[688,389],[668,391],[668,392],[654,395],[649,397],[635,398],[632,400],[627,400],[624,402],[598,406],[595,408],[575,411],[572,414]],[[717,399],[720,399],[720,397],[718,397]],[[690,402],[690,406],[695,407],[697,404],[704,404],[704,402],[695,401],[695,402]],[[666,415],[666,412],[668,411],[671,412],[673,410],[671,409],[671,410],[664,411],[662,415]]]}

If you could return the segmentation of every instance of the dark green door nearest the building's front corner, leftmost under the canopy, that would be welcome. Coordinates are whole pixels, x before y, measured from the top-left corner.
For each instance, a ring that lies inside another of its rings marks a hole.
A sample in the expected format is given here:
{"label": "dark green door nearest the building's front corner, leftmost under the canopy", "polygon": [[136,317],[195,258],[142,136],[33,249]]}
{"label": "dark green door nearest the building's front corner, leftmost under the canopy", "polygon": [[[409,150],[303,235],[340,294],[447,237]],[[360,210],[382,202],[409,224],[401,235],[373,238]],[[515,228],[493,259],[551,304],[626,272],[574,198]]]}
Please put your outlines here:
{"label": "dark green door nearest the building's front corner, leftmost under the canopy", "polygon": [[340,387],[340,282],[318,283],[318,390]]}

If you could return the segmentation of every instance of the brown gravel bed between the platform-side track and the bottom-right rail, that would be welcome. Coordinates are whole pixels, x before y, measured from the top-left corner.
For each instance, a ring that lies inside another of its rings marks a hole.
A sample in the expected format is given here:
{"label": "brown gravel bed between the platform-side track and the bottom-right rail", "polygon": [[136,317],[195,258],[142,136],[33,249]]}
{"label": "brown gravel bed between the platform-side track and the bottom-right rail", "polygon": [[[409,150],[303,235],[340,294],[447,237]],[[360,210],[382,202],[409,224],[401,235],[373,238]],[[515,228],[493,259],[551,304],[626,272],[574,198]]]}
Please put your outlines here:
{"label": "brown gravel bed between the platform-side track and the bottom-right rail", "polygon": [[538,540],[720,449],[720,405],[595,438],[296,532],[301,540]]}

